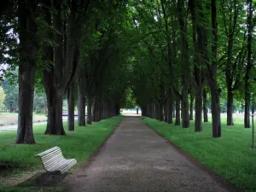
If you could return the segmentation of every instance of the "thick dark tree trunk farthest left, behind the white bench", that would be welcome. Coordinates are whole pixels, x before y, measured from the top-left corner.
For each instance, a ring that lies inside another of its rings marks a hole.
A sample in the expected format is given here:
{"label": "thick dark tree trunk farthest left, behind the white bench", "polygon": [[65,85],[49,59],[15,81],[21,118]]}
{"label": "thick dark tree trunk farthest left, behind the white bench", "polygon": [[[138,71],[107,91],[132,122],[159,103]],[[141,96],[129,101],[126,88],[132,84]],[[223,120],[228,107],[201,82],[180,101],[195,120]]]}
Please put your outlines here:
{"label": "thick dark tree trunk farthest left, behind the white bench", "polygon": [[37,61],[37,32],[35,1],[19,1],[20,38],[19,116],[16,143],[36,143],[32,130],[33,96]]}

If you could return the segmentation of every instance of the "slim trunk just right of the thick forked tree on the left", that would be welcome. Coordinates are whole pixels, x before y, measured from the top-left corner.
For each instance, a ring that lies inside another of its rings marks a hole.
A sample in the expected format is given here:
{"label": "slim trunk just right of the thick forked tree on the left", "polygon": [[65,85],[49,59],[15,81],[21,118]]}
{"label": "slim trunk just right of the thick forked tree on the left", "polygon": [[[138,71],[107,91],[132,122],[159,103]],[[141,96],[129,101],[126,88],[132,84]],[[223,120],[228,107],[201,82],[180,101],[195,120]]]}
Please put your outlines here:
{"label": "slim trunk just right of the thick forked tree on the left", "polygon": [[73,82],[67,90],[67,104],[68,104],[67,129],[68,131],[74,131],[74,109],[75,109],[74,86],[75,84]]}

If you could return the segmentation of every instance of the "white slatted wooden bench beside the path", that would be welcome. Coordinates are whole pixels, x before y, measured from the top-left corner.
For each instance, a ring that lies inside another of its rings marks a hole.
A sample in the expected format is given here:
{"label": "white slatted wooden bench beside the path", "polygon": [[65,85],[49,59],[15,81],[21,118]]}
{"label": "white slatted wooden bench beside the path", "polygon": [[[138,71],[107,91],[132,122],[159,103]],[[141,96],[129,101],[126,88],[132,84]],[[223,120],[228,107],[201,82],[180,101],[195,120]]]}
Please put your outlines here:
{"label": "white slatted wooden bench beside the path", "polygon": [[75,159],[66,160],[61,153],[61,148],[59,147],[49,148],[35,156],[41,158],[44,169],[47,172],[67,172],[77,163],[77,160]]}

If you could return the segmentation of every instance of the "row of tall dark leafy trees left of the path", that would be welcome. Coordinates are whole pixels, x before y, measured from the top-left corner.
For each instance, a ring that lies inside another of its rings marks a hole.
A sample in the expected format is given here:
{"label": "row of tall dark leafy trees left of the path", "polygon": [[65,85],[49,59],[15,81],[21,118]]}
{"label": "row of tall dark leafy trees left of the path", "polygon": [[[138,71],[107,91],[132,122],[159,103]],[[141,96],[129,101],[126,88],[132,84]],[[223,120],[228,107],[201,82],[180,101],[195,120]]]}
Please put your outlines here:
{"label": "row of tall dark leafy trees left of the path", "polygon": [[9,70],[3,71],[9,74],[17,64],[19,67],[16,143],[35,143],[35,86],[47,98],[45,134],[66,134],[62,123],[64,96],[69,131],[74,130],[76,101],[81,126],[85,125],[85,102],[87,124],[119,114],[129,77],[118,36],[125,25],[125,5],[126,1],[90,0],[14,0],[5,5],[1,13],[1,61]]}

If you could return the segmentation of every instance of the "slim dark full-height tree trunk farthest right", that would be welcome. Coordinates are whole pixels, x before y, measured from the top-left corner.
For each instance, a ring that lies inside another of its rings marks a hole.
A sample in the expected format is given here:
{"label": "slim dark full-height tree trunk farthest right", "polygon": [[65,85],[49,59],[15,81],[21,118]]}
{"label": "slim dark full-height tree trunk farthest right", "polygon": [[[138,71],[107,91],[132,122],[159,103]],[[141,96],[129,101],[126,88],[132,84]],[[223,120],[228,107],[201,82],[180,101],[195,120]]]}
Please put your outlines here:
{"label": "slim dark full-height tree trunk farthest right", "polygon": [[253,39],[253,0],[247,1],[247,70],[245,75],[245,113],[244,113],[244,128],[250,127],[250,102],[251,102],[251,88],[250,88],[250,76],[253,67],[252,61],[252,39]]}

